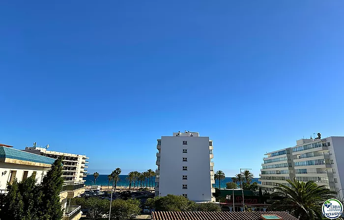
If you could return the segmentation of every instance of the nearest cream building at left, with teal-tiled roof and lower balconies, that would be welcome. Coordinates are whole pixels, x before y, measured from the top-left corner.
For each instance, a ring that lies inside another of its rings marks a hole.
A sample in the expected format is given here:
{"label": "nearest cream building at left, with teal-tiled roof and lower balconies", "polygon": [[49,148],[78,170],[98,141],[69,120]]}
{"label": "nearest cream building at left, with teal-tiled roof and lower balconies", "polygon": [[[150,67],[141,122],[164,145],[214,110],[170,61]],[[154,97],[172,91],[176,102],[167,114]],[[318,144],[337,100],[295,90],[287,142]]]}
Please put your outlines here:
{"label": "nearest cream building at left, with teal-tiled roof and lower balconies", "polygon": [[[12,148],[0,144],[0,193],[7,193],[7,182],[17,178],[21,182],[31,176],[36,176],[41,183],[55,159]],[[67,201],[85,192],[84,182],[65,182],[59,194],[61,208],[64,209],[62,220],[79,220],[81,206],[68,206]]]}

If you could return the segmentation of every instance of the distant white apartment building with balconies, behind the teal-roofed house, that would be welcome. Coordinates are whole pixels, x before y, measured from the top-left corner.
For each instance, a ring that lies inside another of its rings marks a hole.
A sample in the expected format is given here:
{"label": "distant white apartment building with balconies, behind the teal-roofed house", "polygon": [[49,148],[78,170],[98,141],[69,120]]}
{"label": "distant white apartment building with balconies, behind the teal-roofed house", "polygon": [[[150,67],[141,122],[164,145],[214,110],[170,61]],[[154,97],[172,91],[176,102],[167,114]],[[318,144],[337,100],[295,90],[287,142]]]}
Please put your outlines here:
{"label": "distant white apartment building with balconies, behind the teal-roofed house", "polygon": [[26,147],[24,151],[39,154],[42,156],[50,157],[57,159],[59,156],[64,156],[63,160],[63,175],[64,181],[68,182],[85,182],[83,180],[86,177],[86,168],[88,167],[88,157],[86,155],[80,154],[70,154],[70,153],[61,153],[57,151],[50,151],[43,147],[36,147],[36,144],[33,144],[33,147]]}

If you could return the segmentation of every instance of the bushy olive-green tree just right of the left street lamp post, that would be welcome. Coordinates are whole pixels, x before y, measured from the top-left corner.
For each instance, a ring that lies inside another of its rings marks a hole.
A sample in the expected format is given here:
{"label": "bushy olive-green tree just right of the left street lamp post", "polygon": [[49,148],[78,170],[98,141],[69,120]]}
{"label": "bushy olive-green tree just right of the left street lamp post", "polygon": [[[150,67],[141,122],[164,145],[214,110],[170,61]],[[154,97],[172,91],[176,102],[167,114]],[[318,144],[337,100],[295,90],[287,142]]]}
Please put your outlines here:
{"label": "bushy olive-green tree just right of the left street lamp post", "polygon": [[128,220],[131,217],[138,215],[141,211],[140,201],[137,199],[115,199],[111,206],[111,218],[116,220]]}

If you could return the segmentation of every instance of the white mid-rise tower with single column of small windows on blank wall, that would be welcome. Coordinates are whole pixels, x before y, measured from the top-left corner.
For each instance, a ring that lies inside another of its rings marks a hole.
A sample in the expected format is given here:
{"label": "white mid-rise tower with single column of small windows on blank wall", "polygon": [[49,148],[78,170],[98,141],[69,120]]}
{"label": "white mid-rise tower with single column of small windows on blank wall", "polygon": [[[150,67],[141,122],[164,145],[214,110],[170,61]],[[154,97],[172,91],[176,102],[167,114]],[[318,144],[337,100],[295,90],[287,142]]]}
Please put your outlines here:
{"label": "white mid-rise tower with single column of small windows on blank wall", "polygon": [[209,137],[185,131],[158,139],[155,195],[182,195],[193,201],[215,201],[213,144]]}

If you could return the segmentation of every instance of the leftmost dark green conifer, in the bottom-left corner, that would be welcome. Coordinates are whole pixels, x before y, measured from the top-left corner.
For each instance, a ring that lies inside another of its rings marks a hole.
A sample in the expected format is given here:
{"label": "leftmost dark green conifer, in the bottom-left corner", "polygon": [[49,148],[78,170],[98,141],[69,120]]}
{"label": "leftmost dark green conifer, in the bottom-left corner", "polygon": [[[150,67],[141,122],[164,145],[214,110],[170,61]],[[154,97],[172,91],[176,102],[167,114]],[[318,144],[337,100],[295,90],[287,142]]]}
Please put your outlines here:
{"label": "leftmost dark green conifer, in the bottom-left corner", "polygon": [[1,207],[0,218],[3,220],[22,220],[24,217],[24,202],[19,190],[17,178],[7,186],[7,194]]}

